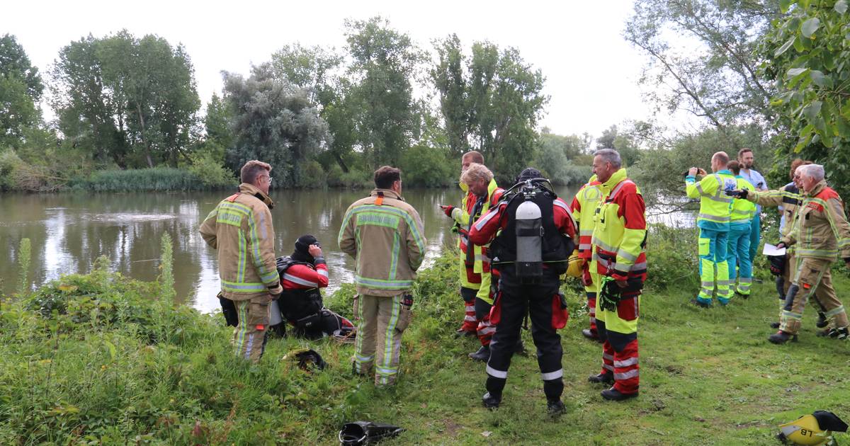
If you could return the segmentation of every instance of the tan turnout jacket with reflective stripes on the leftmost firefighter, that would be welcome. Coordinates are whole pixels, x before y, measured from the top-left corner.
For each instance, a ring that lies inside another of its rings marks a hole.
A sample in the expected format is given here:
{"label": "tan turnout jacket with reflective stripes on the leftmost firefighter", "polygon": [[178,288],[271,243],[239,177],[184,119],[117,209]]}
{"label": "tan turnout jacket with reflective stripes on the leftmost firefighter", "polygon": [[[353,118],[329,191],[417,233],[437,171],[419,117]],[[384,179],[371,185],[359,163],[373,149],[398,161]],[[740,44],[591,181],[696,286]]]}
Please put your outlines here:
{"label": "tan turnout jacket with reflective stripes on the leftmost firefighter", "polygon": [[201,223],[201,236],[218,251],[224,297],[232,301],[268,295],[280,283],[268,204],[269,195],[241,183],[239,194],[219,202]]}

